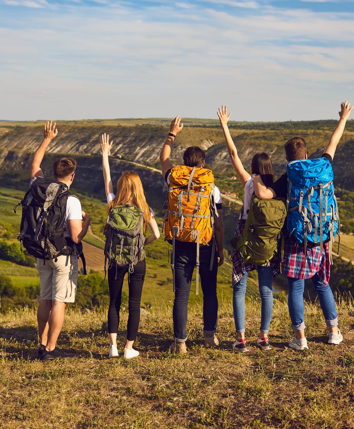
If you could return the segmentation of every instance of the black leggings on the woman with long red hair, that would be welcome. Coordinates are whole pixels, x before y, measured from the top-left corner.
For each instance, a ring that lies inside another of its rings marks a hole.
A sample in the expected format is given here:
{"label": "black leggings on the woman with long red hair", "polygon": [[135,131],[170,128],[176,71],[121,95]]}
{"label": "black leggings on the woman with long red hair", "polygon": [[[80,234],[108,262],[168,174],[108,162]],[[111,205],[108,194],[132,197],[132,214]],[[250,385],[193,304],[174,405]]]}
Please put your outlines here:
{"label": "black leggings on the woman with long red hair", "polygon": [[[124,276],[128,272],[129,266],[115,269],[115,266],[108,269],[109,287],[109,309],[108,309],[108,333],[116,334],[119,326],[119,310],[121,309],[122,287]],[[117,278],[115,273],[117,272]],[[128,326],[127,341],[135,341],[140,322],[140,300],[142,286],[144,284],[146,272],[145,259],[134,266],[134,271],[129,273],[129,302],[128,302]]]}

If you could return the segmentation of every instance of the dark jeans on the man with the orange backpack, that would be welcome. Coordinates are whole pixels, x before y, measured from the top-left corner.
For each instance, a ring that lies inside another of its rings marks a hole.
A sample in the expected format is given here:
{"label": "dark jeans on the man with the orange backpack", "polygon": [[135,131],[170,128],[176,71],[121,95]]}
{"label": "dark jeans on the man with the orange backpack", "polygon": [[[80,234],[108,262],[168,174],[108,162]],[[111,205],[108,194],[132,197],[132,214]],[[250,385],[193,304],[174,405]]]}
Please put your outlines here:
{"label": "dark jeans on the man with the orange backpack", "polygon": [[[213,334],[218,326],[218,296],[216,294],[218,257],[216,250],[212,271],[210,271],[211,257],[212,246],[200,246],[199,274],[203,291],[203,320],[204,333],[206,334]],[[188,298],[196,262],[197,252],[175,249],[175,300],[172,317],[173,331],[177,342],[183,342],[187,339]]]}

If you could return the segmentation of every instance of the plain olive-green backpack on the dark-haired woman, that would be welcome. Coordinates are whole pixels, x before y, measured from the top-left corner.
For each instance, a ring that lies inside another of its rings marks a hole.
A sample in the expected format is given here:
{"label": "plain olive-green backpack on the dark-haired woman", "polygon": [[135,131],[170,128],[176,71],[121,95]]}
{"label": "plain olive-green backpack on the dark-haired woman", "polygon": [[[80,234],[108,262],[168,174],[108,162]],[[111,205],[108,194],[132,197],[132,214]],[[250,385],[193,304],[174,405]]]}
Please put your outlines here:
{"label": "plain olive-green backpack on the dark-haired woman", "polygon": [[284,236],[281,229],[285,218],[284,199],[258,199],[255,195],[252,197],[245,228],[241,236],[235,236],[231,240],[233,247],[242,255],[243,263],[253,265],[269,263],[278,251],[280,240],[281,259],[283,258]]}

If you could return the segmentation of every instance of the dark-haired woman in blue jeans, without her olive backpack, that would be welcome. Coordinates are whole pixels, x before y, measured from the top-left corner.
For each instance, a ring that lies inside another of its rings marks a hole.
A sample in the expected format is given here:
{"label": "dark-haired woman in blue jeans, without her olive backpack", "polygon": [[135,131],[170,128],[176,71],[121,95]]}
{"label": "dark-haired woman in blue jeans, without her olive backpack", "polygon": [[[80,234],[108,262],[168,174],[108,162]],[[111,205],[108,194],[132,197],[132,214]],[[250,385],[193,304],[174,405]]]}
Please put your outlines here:
{"label": "dark-haired woman in blue jeans, without her olive backpack", "polygon": [[[263,183],[266,183],[266,186],[271,186],[271,184],[274,183],[273,165],[268,154],[259,152],[252,158],[251,174],[249,174],[239,159],[236,146],[233,142],[233,139],[231,138],[229,128],[227,127],[227,121],[229,120],[231,113],[227,115],[226,106],[221,106],[221,110],[219,108],[217,113],[220,119],[222,130],[224,132],[224,137],[233,168],[235,169],[245,192],[243,198],[243,210],[239,217],[237,229],[235,232],[236,236],[241,236],[247,220],[251,199],[254,194],[253,177],[255,175],[260,175]],[[269,332],[269,325],[273,311],[272,278],[273,275],[278,274],[279,264],[273,263],[272,260],[269,264],[264,266],[255,266],[247,262],[243,263],[242,256],[236,249],[233,249],[232,251],[231,261],[233,263],[233,315],[235,318],[237,332],[237,338],[232,347],[234,350],[238,350],[240,352],[248,351],[245,340],[245,293],[247,286],[247,274],[248,271],[252,271],[257,268],[259,292],[262,302],[262,313],[260,333],[258,335],[256,344],[257,347],[259,347],[261,350],[270,350],[271,347],[267,334]]]}

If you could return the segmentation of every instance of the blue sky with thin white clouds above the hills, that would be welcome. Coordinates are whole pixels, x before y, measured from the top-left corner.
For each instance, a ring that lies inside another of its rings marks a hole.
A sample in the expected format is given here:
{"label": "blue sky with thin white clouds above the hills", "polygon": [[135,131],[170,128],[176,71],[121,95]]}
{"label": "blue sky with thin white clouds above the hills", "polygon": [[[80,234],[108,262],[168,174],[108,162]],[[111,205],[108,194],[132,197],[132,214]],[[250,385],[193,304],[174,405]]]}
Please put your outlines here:
{"label": "blue sky with thin white clouds above the hills", "polygon": [[0,119],[337,118],[354,1],[0,0]]}

